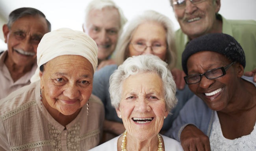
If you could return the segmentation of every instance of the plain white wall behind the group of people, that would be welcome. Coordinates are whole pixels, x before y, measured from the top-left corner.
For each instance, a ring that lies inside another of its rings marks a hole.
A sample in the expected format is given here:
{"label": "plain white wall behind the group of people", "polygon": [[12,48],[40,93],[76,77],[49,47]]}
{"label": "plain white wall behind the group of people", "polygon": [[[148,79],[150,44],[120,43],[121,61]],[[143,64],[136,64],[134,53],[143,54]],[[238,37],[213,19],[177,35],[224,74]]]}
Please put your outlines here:
{"label": "plain white wall behind the group of people", "polygon": [[[114,0],[131,19],[137,13],[153,9],[171,18],[174,29],[179,25],[169,0]],[[0,0],[0,26],[6,24],[11,11],[19,7],[34,7],[42,11],[52,24],[52,30],[69,27],[82,31],[84,10],[90,0]],[[227,19],[256,20],[256,0],[221,0],[219,13]],[[3,22],[4,21],[4,22]],[[0,39],[3,40],[2,28]],[[0,50],[6,45],[0,40]]]}

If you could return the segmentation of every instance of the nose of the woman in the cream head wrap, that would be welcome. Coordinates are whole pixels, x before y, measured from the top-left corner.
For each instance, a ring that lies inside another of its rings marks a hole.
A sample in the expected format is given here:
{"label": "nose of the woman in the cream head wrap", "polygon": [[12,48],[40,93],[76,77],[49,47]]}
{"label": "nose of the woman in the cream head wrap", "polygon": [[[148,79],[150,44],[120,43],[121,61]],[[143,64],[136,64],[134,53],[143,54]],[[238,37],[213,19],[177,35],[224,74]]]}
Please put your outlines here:
{"label": "nose of the woman in the cream head wrap", "polygon": [[63,91],[63,95],[67,96],[69,99],[78,99],[80,96],[80,91],[78,86],[76,86],[75,83],[69,83],[67,84],[67,86],[65,87],[64,91]]}

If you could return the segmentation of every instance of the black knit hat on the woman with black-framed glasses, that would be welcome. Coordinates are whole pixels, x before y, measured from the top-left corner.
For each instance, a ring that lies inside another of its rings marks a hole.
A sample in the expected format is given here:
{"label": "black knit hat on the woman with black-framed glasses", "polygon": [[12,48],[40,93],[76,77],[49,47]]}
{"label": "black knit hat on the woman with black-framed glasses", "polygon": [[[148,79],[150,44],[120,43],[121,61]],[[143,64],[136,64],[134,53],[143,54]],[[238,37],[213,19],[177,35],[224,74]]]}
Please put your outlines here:
{"label": "black knit hat on the woman with black-framed glasses", "polygon": [[187,75],[187,59],[200,51],[221,53],[245,68],[245,53],[241,45],[230,35],[211,33],[191,40],[182,53],[182,68]]}

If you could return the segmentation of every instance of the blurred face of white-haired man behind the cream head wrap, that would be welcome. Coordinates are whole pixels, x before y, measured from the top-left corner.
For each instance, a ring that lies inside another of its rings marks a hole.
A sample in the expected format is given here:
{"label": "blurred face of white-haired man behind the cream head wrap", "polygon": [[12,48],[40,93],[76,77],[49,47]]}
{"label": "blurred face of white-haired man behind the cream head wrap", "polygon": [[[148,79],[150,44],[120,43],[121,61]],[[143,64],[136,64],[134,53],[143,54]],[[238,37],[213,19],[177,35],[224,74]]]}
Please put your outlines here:
{"label": "blurred face of white-haired man behind the cream head wrap", "polygon": [[86,23],[87,29],[84,31],[96,42],[99,60],[105,60],[115,50],[120,26],[117,9],[106,7],[90,11]]}

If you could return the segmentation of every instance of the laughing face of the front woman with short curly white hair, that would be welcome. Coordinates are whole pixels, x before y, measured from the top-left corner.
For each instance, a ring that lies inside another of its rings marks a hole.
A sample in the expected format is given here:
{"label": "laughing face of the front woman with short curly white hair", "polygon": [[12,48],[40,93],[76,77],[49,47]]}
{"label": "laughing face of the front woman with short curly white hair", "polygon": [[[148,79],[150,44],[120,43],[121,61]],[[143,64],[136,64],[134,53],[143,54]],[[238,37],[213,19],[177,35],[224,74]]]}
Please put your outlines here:
{"label": "laughing face of the front woman with short curly white hair", "polygon": [[138,73],[122,82],[117,114],[130,135],[140,141],[156,136],[163,126],[165,108],[163,82],[156,73]]}

